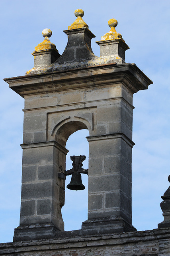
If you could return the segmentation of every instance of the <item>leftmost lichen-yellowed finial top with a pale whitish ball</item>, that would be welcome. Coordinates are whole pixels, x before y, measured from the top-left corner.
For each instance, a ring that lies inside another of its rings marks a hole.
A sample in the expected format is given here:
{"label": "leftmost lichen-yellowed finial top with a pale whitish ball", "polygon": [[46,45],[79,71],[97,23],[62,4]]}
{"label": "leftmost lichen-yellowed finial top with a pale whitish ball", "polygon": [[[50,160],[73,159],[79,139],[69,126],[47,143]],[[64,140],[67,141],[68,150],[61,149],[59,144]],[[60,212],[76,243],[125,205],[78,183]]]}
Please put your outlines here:
{"label": "leftmost lichen-yellowed finial top with a pale whitish ball", "polygon": [[55,44],[51,43],[49,40],[49,37],[52,35],[52,31],[49,28],[45,28],[42,31],[43,37],[45,37],[44,41],[40,44],[38,44],[35,47],[35,52],[42,51],[42,50],[49,50],[49,49],[55,49]]}

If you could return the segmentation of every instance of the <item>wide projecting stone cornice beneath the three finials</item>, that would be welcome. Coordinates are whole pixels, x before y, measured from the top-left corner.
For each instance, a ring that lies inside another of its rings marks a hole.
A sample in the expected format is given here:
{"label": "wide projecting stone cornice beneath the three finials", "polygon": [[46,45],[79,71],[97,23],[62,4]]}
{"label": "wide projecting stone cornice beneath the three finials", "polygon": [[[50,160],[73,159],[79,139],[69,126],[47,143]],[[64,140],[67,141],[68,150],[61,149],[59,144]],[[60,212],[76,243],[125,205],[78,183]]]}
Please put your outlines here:
{"label": "wide projecting stone cornice beneath the three finials", "polygon": [[[145,90],[153,82],[135,65],[115,63],[5,78],[9,87],[24,97],[30,94],[123,83],[131,92]],[[68,82],[69,81],[69,82]]]}

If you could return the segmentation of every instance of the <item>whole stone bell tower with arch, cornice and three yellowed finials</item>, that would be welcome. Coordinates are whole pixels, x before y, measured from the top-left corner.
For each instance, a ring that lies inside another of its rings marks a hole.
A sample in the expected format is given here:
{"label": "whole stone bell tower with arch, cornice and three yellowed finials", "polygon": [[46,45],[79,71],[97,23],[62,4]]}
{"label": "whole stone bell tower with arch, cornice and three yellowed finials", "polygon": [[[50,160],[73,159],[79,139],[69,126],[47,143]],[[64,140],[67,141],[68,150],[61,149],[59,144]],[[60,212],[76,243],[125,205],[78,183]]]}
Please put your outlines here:
{"label": "whole stone bell tower with arch, cornice and three yellowed finials", "polygon": [[78,234],[135,231],[131,224],[133,94],[152,81],[125,63],[129,49],[109,20],[111,30],[91,48],[94,34],[75,11],[59,54],[51,30],[33,52],[34,67],[25,76],[6,78],[25,100],[20,226],[14,241],[55,238],[64,232],[65,148],[69,136],[88,129],[88,220]]}

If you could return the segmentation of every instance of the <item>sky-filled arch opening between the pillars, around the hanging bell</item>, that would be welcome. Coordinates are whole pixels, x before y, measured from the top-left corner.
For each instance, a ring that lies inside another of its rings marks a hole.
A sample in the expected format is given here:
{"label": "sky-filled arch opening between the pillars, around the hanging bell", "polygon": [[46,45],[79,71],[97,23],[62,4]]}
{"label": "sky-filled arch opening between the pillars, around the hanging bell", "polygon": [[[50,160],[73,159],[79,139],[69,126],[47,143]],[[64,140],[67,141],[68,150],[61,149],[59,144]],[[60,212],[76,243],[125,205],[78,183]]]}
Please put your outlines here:
{"label": "sky-filled arch opening between the pillars, around the hanging bell", "polygon": [[[85,155],[82,168],[88,168],[88,130],[78,130],[70,135],[66,142],[66,148],[69,150],[66,156],[66,170],[72,168],[70,156]],[[71,175],[66,177],[66,186],[70,183]],[[64,230],[81,229],[82,222],[87,220],[88,213],[88,175],[82,174],[82,183],[85,190],[65,190],[65,204],[62,207],[62,217],[64,221]]]}

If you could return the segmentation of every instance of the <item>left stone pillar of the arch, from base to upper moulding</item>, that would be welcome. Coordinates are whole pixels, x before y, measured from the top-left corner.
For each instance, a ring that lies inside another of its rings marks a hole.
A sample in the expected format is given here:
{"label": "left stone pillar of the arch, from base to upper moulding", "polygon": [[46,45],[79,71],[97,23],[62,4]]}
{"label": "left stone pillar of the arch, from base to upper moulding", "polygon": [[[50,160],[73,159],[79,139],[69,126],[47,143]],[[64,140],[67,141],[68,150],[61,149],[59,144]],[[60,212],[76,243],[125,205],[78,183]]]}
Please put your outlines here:
{"label": "left stone pillar of the arch, from base to upper moulding", "polygon": [[14,241],[52,238],[64,230],[65,180],[58,178],[58,172],[65,169],[68,150],[46,140],[46,118],[47,114],[31,109],[24,113],[20,226]]}

